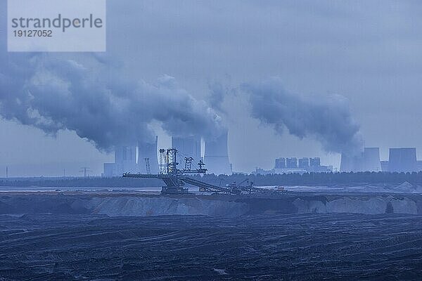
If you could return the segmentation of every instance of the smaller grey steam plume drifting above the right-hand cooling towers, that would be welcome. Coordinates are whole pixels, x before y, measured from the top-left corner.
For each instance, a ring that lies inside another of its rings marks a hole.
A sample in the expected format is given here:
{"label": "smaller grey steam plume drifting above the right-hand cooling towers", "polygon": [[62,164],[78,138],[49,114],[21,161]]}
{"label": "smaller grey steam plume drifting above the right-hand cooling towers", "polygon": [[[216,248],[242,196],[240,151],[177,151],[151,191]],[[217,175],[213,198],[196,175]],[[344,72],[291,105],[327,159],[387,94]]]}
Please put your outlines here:
{"label": "smaller grey steam plume drifting above the right-hand cooling towers", "polygon": [[286,128],[299,138],[316,138],[327,152],[354,155],[362,151],[359,125],[343,96],[297,96],[284,90],[277,78],[245,84],[243,90],[250,93],[252,116],[277,133]]}

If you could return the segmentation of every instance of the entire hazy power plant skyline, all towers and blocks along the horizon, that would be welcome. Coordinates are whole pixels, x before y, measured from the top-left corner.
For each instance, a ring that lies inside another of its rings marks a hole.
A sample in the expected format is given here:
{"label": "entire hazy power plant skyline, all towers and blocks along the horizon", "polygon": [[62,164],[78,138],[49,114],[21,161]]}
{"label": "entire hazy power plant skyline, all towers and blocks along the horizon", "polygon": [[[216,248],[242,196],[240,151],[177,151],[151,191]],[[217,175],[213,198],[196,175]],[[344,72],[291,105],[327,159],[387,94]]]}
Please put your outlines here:
{"label": "entire hazy power plant skyline, all towers and blocks along the horizon", "polygon": [[[203,160],[209,174],[232,174],[227,148],[228,131],[217,138],[204,140],[201,148],[200,136],[172,136],[172,148],[182,157],[192,157],[195,162]],[[141,142],[139,142],[141,143]],[[158,137],[153,143],[134,144],[115,147],[115,162],[104,163],[103,176],[121,176],[124,173],[158,173]],[[256,169],[254,174],[285,174],[303,172],[329,172],[332,166],[321,166],[319,157],[315,158],[277,158],[274,169]],[[388,161],[381,161],[380,148],[364,148],[357,155],[341,155],[340,171],[422,171],[422,161],[416,159],[416,148],[390,148]]]}

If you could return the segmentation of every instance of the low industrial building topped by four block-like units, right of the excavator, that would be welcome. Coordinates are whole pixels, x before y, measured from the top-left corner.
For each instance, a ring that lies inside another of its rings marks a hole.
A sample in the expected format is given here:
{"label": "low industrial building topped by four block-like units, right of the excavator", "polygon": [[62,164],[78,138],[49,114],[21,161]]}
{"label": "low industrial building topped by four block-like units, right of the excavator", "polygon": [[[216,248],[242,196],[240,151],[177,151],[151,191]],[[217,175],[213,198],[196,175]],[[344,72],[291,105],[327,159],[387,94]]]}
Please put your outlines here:
{"label": "low industrial building topped by four block-like units, right of the excavator", "polygon": [[291,174],[291,173],[321,173],[321,172],[330,172],[333,171],[333,166],[321,166],[321,159],[319,157],[308,158],[277,158],[274,169],[264,170],[260,168],[255,168],[255,171],[252,174]]}

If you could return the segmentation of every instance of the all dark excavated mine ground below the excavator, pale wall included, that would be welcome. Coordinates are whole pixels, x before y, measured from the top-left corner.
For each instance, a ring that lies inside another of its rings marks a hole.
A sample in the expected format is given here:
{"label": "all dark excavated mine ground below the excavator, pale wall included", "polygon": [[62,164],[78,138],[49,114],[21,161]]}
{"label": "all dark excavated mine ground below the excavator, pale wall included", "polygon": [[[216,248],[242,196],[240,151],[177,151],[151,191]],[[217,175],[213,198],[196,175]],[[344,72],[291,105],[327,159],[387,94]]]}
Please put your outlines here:
{"label": "all dark excavated mine ground below the excavator, pale wall included", "polygon": [[421,280],[421,202],[4,192],[0,280]]}

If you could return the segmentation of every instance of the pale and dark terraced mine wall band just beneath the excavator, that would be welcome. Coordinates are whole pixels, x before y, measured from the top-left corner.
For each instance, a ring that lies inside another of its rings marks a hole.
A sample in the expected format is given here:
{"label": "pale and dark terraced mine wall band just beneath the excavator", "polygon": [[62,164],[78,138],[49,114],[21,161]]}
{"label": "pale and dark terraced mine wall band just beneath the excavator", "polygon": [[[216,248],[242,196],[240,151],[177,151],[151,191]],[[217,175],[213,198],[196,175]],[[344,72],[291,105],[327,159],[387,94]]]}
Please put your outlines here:
{"label": "pale and dark terraced mine wall band just beneath the excavator", "polygon": [[0,214],[107,216],[247,216],[255,214],[422,214],[422,195],[359,194],[274,196],[14,192],[0,195]]}

